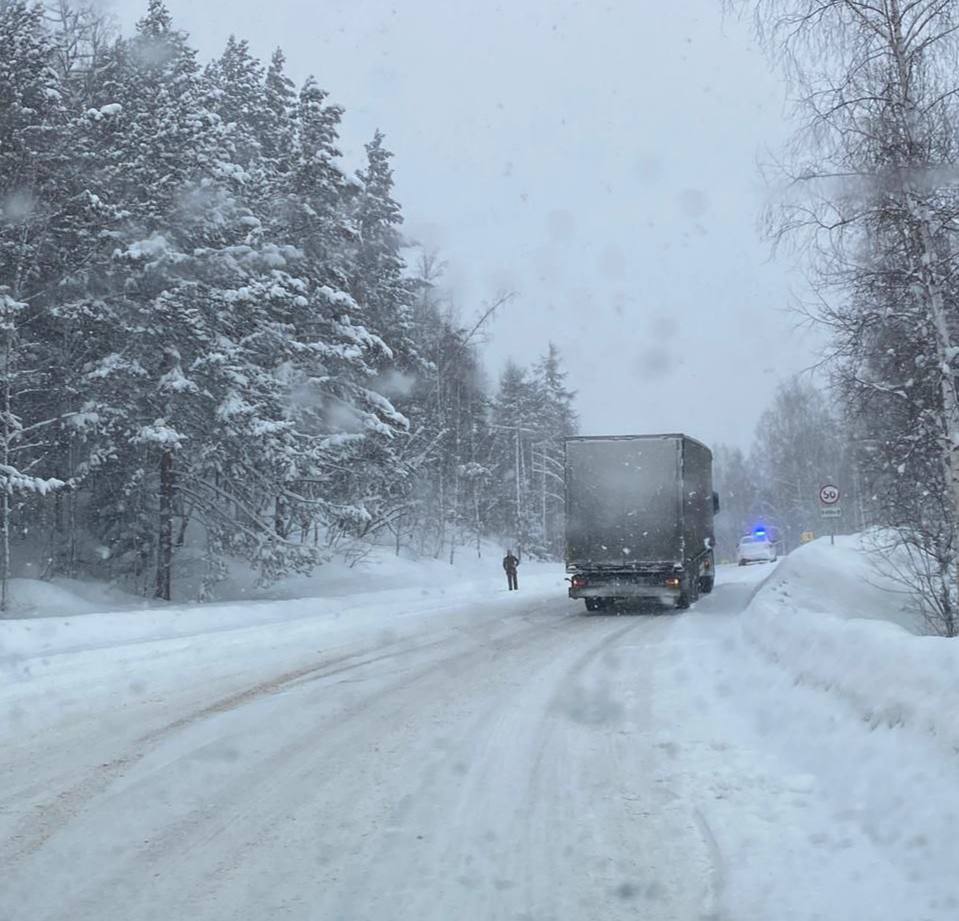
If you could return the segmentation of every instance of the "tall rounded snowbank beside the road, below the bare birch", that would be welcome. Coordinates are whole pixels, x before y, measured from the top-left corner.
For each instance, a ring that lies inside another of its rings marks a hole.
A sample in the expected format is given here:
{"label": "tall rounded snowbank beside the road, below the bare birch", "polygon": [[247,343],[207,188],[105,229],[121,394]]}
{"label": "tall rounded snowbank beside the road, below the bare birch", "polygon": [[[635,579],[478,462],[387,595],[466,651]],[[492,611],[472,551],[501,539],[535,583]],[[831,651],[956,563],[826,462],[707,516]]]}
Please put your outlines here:
{"label": "tall rounded snowbank beside the road, below the bare birch", "polygon": [[872,728],[916,730],[959,753],[959,641],[909,632],[903,595],[858,538],[791,554],[742,624],[797,684],[841,698]]}

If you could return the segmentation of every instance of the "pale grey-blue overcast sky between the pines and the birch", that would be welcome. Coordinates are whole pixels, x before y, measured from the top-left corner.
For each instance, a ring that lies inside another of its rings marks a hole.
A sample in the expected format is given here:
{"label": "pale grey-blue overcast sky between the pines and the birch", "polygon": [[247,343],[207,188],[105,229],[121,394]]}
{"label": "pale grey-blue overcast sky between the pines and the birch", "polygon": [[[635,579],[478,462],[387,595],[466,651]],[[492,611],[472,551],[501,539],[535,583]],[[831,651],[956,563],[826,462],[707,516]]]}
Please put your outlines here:
{"label": "pale grey-blue overcast sky between the pines and the birch", "polygon": [[[125,30],[146,0],[110,0]],[[464,316],[517,293],[492,371],[549,339],[584,434],[682,430],[748,446],[778,380],[815,358],[801,278],[757,226],[785,91],[719,0],[168,0],[202,58],[280,45],[381,128],[407,232]]]}

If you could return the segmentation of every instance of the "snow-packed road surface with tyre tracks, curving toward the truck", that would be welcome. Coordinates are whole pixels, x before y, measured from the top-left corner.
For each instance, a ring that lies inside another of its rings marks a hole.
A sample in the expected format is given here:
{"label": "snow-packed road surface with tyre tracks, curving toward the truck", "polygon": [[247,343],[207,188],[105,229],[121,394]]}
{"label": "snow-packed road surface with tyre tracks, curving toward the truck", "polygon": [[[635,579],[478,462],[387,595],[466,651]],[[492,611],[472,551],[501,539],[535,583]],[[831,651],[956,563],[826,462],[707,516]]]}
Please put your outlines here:
{"label": "snow-packed road surface with tyre tracks, curving toward the truck", "polygon": [[[837,726],[888,740],[748,648],[771,572],[725,569],[679,616],[585,616],[551,576],[21,652],[0,919],[959,916],[836,779]],[[923,776],[917,799],[948,780]]]}

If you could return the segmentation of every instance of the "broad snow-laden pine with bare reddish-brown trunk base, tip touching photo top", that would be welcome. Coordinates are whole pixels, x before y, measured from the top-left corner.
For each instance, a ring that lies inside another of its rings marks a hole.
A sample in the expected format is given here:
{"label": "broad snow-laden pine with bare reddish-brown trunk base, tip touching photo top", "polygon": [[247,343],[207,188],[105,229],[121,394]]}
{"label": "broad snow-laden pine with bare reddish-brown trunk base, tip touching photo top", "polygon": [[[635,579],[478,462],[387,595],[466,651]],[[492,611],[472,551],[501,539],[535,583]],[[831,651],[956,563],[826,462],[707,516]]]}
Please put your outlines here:
{"label": "broad snow-laden pine with bare reddish-brown trunk base, tip touching photo top", "polygon": [[159,2],[116,46],[100,93],[97,111],[118,123],[101,181],[127,218],[103,298],[113,328],[86,367],[100,468],[88,522],[113,571],[142,584],[152,569],[159,597],[191,522],[208,576],[228,554],[272,574],[302,550],[260,498],[279,490],[290,437],[275,367],[290,337],[270,311],[300,293],[274,284],[283,250],[260,237],[228,159],[242,147],[253,165],[253,132],[227,131],[207,107],[194,52]]}

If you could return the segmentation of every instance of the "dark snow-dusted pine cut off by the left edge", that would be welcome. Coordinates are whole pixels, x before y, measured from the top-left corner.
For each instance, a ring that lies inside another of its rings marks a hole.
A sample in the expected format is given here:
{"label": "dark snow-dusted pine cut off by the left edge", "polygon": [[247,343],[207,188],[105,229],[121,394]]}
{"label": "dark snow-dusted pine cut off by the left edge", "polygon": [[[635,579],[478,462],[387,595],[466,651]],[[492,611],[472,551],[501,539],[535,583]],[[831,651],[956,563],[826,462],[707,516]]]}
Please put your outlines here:
{"label": "dark snow-dusted pine cut off by the left edge", "polygon": [[[55,70],[42,9],[0,7],[0,302],[3,328],[3,533],[5,572],[15,530],[34,554],[60,508],[59,447],[71,400],[63,338],[52,337],[65,285],[88,255],[93,202],[71,169],[71,113]],[[65,337],[64,337],[65,338]],[[5,582],[4,582],[5,585]]]}

